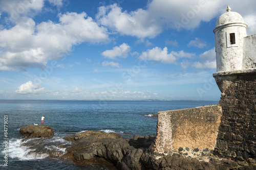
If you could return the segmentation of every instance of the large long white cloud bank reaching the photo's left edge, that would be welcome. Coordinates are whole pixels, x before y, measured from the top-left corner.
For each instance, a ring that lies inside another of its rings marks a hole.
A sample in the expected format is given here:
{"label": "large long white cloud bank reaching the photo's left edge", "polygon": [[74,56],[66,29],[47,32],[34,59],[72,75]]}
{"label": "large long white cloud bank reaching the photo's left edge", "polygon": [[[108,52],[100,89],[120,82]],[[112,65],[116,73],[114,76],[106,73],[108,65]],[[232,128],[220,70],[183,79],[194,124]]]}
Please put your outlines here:
{"label": "large long white cloud bank reaching the photo's left edge", "polygon": [[59,14],[59,23],[49,20],[38,25],[24,17],[14,27],[0,31],[0,71],[45,67],[49,60],[69,54],[72,45],[107,40],[106,29],[84,12]]}

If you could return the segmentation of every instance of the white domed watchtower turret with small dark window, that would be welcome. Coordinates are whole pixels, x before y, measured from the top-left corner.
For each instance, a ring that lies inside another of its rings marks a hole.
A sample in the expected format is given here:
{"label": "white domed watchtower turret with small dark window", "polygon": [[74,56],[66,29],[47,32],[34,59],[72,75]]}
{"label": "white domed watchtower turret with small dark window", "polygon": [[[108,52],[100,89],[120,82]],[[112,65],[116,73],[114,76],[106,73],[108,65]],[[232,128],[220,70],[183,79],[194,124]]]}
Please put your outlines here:
{"label": "white domed watchtower turret with small dark window", "polygon": [[217,72],[243,69],[247,24],[239,13],[230,10],[227,6],[227,12],[218,18],[214,29]]}

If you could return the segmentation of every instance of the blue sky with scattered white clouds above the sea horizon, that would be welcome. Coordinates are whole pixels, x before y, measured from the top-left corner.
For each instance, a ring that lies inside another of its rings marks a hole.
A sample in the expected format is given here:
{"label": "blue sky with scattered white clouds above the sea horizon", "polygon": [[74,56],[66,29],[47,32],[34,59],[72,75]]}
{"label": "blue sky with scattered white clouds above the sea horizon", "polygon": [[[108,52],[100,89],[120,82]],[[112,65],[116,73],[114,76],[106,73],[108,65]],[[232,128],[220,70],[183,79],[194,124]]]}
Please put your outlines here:
{"label": "blue sky with scattered white clouds above the sea horizon", "polygon": [[0,100],[211,100],[218,17],[256,1],[0,0]]}

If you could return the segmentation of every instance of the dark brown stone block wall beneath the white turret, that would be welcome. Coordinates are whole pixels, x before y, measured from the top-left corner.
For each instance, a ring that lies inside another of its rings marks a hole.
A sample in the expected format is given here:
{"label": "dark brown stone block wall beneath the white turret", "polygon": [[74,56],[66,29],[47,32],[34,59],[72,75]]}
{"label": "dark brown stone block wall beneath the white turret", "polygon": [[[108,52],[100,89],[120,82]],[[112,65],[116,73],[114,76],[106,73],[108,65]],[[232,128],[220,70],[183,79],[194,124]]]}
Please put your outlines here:
{"label": "dark brown stone block wall beneath the white turret", "polygon": [[256,156],[256,73],[237,75],[223,91],[215,154],[239,160]]}

